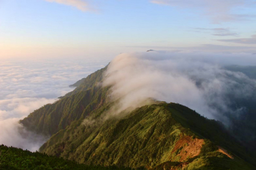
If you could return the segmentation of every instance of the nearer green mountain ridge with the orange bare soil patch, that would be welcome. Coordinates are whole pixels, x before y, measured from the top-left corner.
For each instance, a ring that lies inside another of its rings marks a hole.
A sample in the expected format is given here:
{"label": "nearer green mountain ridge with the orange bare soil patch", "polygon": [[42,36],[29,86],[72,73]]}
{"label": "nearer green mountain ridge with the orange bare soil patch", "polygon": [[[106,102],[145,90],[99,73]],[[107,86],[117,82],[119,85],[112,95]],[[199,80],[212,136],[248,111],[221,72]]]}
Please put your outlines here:
{"label": "nearer green mountain ridge with the orange bare soil patch", "polygon": [[171,161],[185,162],[188,169],[253,169],[242,158],[248,162],[254,158],[220,123],[179,104],[144,106],[121,119],[91,117],[54,134],[40,151],[83,164],[154,168]]}

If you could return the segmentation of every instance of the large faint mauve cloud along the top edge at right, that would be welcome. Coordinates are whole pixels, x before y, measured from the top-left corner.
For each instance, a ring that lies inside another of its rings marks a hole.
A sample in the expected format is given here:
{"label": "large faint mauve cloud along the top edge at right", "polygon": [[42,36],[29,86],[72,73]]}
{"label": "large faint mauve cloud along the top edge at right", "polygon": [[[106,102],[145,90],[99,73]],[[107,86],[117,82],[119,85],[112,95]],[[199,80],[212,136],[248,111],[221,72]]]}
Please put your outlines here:
{"label": "large faint mauve cloud along the top edge at right", "polygon": [[248,14],[232,14],[236,7],[245,7],[253,5],[252,0],[151,0],[154,4],[169,5],[178,8],[193,8],[201,10],[217,24],[232,20],[246,20],[255,17]]}

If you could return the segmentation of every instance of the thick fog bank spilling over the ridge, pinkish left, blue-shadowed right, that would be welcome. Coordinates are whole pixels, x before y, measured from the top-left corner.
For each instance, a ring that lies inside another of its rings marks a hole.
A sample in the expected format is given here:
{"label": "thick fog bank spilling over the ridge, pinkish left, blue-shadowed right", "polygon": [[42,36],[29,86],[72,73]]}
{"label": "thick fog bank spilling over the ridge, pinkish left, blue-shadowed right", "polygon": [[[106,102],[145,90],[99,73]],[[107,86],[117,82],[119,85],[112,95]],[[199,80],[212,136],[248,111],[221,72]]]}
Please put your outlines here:
{"label": "thick fog bank spilling over the ridge, pinkish left, blue-shadowed right", "polygon": [[112,85],[110,97],[120,99],[118,112],[154,98],[235,128],[230,125],[255,117],[256,80],[225,67],[255,63],[249,54],[122,53],[108,65],[103,86]]}

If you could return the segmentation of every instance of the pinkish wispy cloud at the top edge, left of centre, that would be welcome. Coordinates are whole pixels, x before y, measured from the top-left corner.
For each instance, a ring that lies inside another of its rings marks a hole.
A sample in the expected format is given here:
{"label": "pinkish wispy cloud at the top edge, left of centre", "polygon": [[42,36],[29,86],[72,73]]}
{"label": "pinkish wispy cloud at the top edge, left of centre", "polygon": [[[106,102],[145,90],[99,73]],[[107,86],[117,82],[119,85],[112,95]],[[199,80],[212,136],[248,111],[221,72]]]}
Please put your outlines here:
{"label": "pinkish wispy cloud at the top edge, left of centre", "polygon": [[95,11],[90,7],[89,3],[84,0],[46,0],[47,2],[55,2],[67,6],[72,6],[83,12]]}

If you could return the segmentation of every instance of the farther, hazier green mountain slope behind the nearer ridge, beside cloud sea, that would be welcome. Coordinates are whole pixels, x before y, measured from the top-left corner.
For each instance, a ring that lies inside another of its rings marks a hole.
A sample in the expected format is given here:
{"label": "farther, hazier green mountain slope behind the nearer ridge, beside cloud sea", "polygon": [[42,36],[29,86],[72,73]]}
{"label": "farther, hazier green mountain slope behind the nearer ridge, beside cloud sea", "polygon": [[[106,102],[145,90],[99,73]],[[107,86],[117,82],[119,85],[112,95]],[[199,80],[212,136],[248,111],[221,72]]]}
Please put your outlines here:
{"label": "farther, hazier green mountain slope behind the nearer ridge, beside cloud sea", "polygon": [[101,88],[98,85],[102,80],[102,73],[105,69],[106,67],[92,73],[74,91],[61,97],[53,104],[35,110],[20,123],[28,130],[51,136],[66,128],[73,121],[80,118],[84,119],[106,100],[108,88]]}

